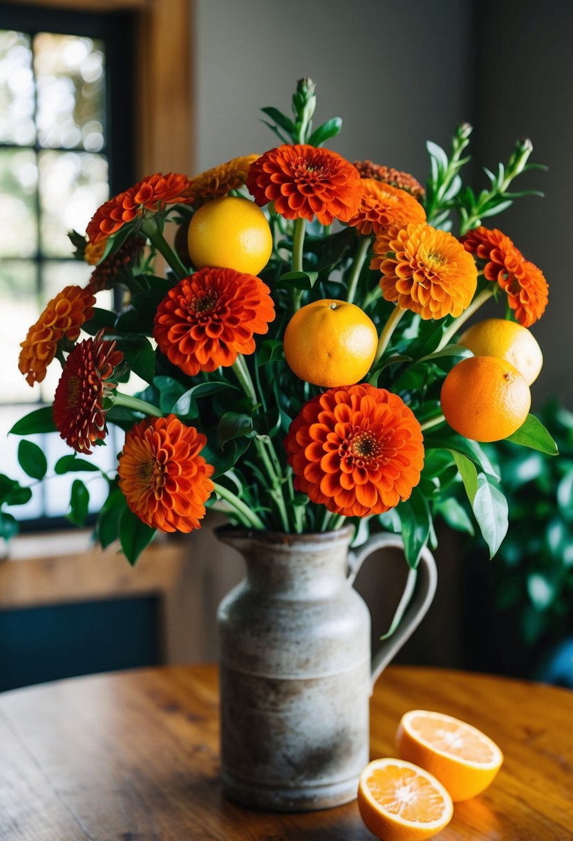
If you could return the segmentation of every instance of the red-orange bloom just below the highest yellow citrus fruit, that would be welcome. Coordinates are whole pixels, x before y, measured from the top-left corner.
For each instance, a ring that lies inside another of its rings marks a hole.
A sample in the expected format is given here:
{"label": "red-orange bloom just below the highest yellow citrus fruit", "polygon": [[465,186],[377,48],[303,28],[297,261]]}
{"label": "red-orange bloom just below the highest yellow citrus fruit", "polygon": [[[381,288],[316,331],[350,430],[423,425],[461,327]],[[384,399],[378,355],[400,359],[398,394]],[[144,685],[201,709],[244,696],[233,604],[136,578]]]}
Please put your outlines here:
{"label": "red-orange bloom just below the highest yellow citrus fruit", "polygon": [[253,353],[253,334],[266,333],[274,318],[269,288],[259,278],[206,267],[170,289],[157,308],[153,337],[170,362],[194,376]]}

